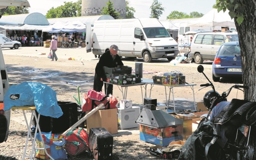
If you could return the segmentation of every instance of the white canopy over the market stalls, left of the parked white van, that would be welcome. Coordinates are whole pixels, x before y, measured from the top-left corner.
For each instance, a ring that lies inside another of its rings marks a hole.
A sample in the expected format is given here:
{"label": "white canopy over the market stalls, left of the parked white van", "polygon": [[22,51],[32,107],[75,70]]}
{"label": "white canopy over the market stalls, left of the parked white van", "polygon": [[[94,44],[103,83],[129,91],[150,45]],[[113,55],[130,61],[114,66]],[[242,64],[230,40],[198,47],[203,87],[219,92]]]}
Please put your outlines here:
{"label": "white canopy over the market stalls, left of the parked white van", "polygon": [[86,25],[82,24],[79,21],[69,21],[69,22],[56,22],[53,25],[48,26],[47,28],[43,28],[42,32],[50,32],[53,30],[74,30],[75,32],[86,32]]}

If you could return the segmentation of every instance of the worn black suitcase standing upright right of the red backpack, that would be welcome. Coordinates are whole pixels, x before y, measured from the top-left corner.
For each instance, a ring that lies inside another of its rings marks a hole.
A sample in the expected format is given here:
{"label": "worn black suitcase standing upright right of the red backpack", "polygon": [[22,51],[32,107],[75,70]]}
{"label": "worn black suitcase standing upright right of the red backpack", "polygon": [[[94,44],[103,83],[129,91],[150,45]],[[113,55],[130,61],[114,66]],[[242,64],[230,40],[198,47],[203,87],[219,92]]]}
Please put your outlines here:
{"label": "worn black suitcase standing upright right of the red backpack", "polygon": [[90,128],[89,146],[95,160],[112,160],[113,136],[105,128]]}

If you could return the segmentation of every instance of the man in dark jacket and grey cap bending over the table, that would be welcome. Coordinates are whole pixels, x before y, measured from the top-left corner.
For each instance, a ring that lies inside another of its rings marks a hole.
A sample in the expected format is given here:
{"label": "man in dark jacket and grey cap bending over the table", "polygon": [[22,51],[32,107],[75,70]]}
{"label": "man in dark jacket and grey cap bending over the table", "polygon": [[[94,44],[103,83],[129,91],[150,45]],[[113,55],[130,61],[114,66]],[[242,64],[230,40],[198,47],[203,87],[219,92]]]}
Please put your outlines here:
{"label": "man in dark jacket and grey cap bending over the table", "polygon": [[[102,91],[103,81],[104,82],[107,81],[103,67],[106,66],[108,68],[114,68],[117,66],[124,65],[120,56],[117,55],[118,50],[119,50],[118,46],[111,45],[110,50],[106,51],[100,57],[100,60],[97,63],[95,68],[94,84],[93,84],[93,89],[96,90],[97,92]],[[106,84],[104,84],[104,88],[105,88],[106,95],[113,94],[113,84],[108,84],[107,93],[106,93]]]}

